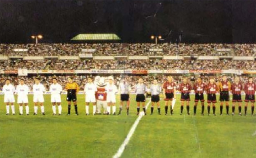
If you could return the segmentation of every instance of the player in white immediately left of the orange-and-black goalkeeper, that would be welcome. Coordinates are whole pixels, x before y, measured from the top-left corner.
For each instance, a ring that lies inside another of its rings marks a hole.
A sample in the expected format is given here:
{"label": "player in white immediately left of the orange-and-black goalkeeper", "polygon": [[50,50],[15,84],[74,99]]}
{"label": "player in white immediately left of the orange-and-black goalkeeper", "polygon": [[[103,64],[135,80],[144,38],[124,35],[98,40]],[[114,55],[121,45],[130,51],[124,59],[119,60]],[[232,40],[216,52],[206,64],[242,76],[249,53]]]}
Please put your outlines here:
{"label": "player in white immediately left of the orange-and-black goalkeeper", "polygon": [[52,79],[53,84],[50,85],[50,92],[51,92],[51,102],[52,102],[52,115],[56,115],[56,104],[58,105],[58,112],[61,115],[62,107],[61,107],[61,92],[62,87],[58,84],[57,79]]}

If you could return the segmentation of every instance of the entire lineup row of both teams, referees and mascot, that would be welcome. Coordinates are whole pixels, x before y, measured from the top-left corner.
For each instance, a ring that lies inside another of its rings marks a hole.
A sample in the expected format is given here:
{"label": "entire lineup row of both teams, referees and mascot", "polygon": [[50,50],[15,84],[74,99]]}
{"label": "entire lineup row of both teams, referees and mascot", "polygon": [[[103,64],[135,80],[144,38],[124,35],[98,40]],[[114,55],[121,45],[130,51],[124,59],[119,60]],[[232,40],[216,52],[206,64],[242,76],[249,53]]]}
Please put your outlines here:
{"label": "entire lineup row of both teams, referees and mascot", "polygon": [[[93,115],[101,113],[103,109],[103,113],[109,115],[111,113],[112,106],[112,114],[116,115],[116,94],[120,92],[120,107],[117,115],[121,114],[123,105],[126,105],[126,114],[129,115],[130,109],[130,84],[129,82],[123,78],[122,82],[117,88],[114,85],[113,77],[108,78],[109,83],[103,87],[96,85],[93,83],[92,78],[88,78],[88,83],[85,85],[84,93],[85,93],[85,111],[86,115],[89,115],[89,104],[93,105]],[[62,87],[57,82],[57,78],[53,78],[52,85],[50,85],[50,93],[51,93],[51,102],[52,102],[52,110],[53,115],[56,115],[56,105],[58,105],[58,114],[61,115],[62,106],[61,106],[61,92]],[[178,87],[178,88],[177,88]],[[71,102],[75,107],[76,115],[78,115],[78,107],[77,107],[77,98],[76,95],[79,91],[79,86],[73,79],[70,77],[68,79],[68,83],[66,84],[67,91],[67,102],[68,102],[68,113],[70,115]],[[147,86],[143,83],[143,80],[140,78],[138,84],[135,86],[136,92],[136,102],[137,102],[137,115],[140,113],[140,104],[142,105],[142,109],[144,114],[146,115],[146,107],[145,107],[145,93],[151,93],[151,114],[153,114],[154,106],[157,105],[158,114],[161,114],[160,111],[160,94],[163,93],[165,96],[165,115],[168,115],[168,107],[170,107],[170,114],[173,114],[173,100],[176,99],[176,91],[181,92],[181,106],[180,106],[180,114],[183,114],[183,107],[186,106],[187,114],[190,115],[190,91],[195,91],[195,105],[194,105],[194,115],[197,113],[197,105],[198,102],[201,102],[201,115],[204,115],[204,92],[207,93],[207,112],[210,115],[210,106],[212,104],[213,115],[216,110],[216,93],[219,93],[220,100],[220,115],[222,115],[223,105],[226,105],[226,113],[229,115],[229,92],[232,93],[232,115],[235,113],[235,106],[238,105],[239,115],[241,115],[242,111],[242,97],[241,91],[245,92],[245,106],[244,106],[244,115],[247,114],[247,106],[248,102],[251,102],[251,115],[254,114],[254,102],[255,102],[255,91],[256,84],[253,83],[253,78],[249,77],[248,82],[242,84],[239,80],[239,77],[235,78],[235,81],[231,84],[227,81],[227,76],[222,77],[222,81],[218,84],[215,83],[213,78],[210,79],[209,83],[202,82],[201,77],[197,78],[197,82],[192,86],[188,83],[187,78],[183,79],[183,82],[176,86],[175,82],[173,82],[172,76],[168,76],[168,81],[166,81],[163,85],[159,85],[157,80],[154,80],[152,85],[147,88]],[[33,85],[33,102],[34,102],[34,115],[37,115],[38,105],[40,105],[41,113],[44,113],[44,85],[40,83],[40,78],[35,79],[35,84]],[[18,99],[17,103],[19,106],[20,115],[23,115],[23,104],[26,109],[26,114],[29,115],[29,106],[28,106],[28,97],[27,94],[29,92],[29,87],[24,84],[24,80],[20,80],[20,84],[15,87],[10,83],[9,79],[6,79],[6,84],[3,87],[4,93],[4,102],[6,103],[6,114],[10,113],[10,105],[12,109],[12,114],[15,114],[14,108],[14,94],[17,93]],[[174,102],[175,103],[175,102]]]}

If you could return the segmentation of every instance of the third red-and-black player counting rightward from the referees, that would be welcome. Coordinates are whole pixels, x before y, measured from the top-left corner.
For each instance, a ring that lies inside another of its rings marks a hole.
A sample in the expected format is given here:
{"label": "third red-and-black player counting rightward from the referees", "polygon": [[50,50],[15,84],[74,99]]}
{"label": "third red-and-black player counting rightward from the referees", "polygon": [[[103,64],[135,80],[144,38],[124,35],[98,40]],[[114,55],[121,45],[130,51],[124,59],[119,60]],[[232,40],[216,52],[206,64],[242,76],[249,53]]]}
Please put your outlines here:
{"label": "third red-and-black player counting rightward from the referees", "polygon": [[204,91],[205,91],[206,85],[202,82],[202,78],[198,77],[197,82],[194,85],[195,90],[195,106],[194,106],[194,115],[197,114],[197,104],[198,101],[201,101],[202,106],[202,112],[201,115],[204,115]]}

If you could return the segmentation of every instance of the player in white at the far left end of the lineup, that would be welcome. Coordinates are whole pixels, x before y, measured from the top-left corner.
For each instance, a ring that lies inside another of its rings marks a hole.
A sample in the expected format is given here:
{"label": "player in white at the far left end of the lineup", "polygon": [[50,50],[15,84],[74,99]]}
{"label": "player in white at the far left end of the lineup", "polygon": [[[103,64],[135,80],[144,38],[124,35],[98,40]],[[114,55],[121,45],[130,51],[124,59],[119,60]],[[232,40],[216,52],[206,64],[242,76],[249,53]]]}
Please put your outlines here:
{"label": "player in white at the far left end of the lineup", "polygon": [[5,85],[3,86],[3,93],[5,94],[4,102],[6,103],[6,115],[10,114],[10,104],[12,108],[12,114],[15,115],[15,108],[14,108],[15,87],[10,83],[9,79],[6,79],[5,81]]}

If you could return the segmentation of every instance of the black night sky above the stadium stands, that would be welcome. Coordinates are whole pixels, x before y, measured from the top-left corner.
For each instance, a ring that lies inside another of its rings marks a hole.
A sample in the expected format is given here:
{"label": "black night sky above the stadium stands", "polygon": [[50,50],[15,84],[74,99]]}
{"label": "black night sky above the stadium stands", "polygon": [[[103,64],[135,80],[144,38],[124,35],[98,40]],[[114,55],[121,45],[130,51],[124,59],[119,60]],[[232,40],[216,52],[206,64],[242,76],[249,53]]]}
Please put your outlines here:
{"label": "black night sky above the stadium stands", "polygon": [[[0,42],[67,43],[78,33],[116,33],[125,43],[255,43],[256,1],[0,1]],[[162,41],[163,42],[163,41]]]}

